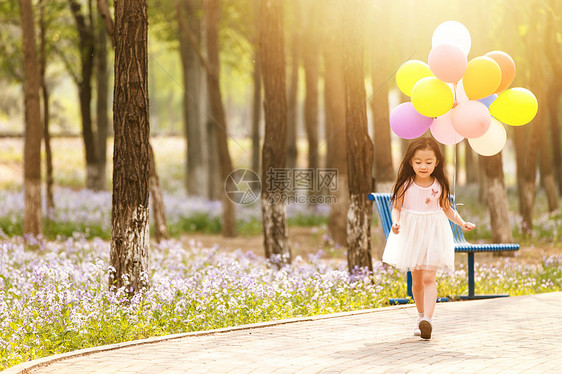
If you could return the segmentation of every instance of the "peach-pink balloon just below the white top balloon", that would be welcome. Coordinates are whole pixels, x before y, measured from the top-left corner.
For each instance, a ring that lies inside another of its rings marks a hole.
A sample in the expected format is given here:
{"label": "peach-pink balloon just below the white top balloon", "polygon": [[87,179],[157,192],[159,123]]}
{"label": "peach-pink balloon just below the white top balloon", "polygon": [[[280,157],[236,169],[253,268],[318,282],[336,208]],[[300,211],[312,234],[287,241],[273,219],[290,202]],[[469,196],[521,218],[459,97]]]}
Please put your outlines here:
{"label": "peach-pink balloon just below the white top balloon", "polygon": [[440,80],[458,82],[466,71],[466,55],[454,44],[442,43],[431,49],[427,62],[431,72]]}

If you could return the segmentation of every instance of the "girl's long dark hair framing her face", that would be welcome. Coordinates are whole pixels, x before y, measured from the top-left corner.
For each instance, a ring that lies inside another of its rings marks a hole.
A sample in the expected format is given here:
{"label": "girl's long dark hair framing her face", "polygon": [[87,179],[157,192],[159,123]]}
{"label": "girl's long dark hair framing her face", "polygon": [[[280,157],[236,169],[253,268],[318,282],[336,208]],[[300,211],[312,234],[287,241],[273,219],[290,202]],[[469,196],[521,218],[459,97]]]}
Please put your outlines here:
{"label": "girl's long dark hair framing her face", "polygon": [[[449,180],[444,172],[445,166],[445,158],[439,149],[439,144],[433,138],[418,138],[410,143],[408,149],[406,150],[406,154],[404,154],[404,159],[402,159],[402,163],[400,164],[400,169],[398,169],[398,177],[396,178],[396,183],[392,188],[392,201],[396,201],[396,199],[404,196],[406,190],[412,185],[414,182],[414,176],[416,173],[414,172],[414,168],[410,164],[410,161],[414,157],[416,151],[419,150],[432,150],[435,153],[435,157],[437,158],[437,165],[435,166],[435,170],[431,175],[437,179],[439,184],[441,184],[441,197],[439,198],[439,205],[441,207],[446,207],[449,204],[449,198],[451,191],[449,189]],[[402,191],[400,191],[401,187],[404,187]]]}

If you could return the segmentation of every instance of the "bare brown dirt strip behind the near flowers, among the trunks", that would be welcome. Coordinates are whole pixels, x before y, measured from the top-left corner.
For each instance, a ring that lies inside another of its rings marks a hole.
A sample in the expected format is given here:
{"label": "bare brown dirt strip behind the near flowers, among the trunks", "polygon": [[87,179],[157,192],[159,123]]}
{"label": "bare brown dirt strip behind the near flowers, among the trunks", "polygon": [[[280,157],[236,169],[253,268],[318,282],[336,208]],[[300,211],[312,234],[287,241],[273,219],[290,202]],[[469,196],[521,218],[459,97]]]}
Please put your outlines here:
{"label": "bare brown dirt strip behind the near flowers, among the trunks", "polygon": [[[345,261],[345,249],[334,247],[334,243],[326,242],[326,229],[322,227],[290,227],[289,238],[291,243],[291,252],[293,257],[301,256],[308,259],[308,255],[316,254],[319,250],[324,253],[322,258],[330,259],[335,262]],[[371,231],[372,255],[373,258],[379,260],[384,251],[385,239],[380,227],[373,227]],[[221,235],[193,234],[185,235],[183,241],[188,242],[195,240],[203,247],[212,247],[219,245],[219,251],[234,251],[241,249],[243,251],[252,251],[258,256],[264,255],[263,237],[256,236],[238,236],[234,238],[224,238]],[[562,254],[562,248],[548,243],[537,243],[535,245],[524,245],[512,257],[518,262],[536,264],[541,263],[544,256]],[[495,256],[493,253],[478,253],[475,261],[480,264],[495,264],[502,261],[502,257]],[[458,253],[455,256],[455,262],[458,264],[466,264],[467,256]]]}

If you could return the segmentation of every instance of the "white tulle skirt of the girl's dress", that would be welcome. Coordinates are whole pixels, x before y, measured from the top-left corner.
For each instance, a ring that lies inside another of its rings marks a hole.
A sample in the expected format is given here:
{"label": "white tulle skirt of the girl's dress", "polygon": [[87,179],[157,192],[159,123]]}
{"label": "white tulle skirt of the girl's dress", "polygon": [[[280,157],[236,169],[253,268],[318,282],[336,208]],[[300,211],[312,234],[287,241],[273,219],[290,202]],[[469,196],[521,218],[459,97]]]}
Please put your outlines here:
{"label": "white tulle skirt of the girl's dress", "polygon": [[455,243],[445,213],[402,209],[400,232],[388,235],[382,261],[400,270],[454,270]]}

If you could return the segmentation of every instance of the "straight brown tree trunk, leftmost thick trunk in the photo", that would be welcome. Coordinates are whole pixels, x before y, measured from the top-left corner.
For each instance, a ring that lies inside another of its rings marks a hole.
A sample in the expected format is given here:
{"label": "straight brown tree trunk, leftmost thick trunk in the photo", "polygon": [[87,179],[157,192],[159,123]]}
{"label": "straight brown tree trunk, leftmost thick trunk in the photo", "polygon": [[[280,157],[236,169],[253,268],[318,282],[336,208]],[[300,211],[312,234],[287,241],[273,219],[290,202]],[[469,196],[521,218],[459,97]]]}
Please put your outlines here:
{"label": "straight brown tree trunk, leftmost thick trunk in the photo", "polygon": [[31,0],[20,0],[23,35],[23,92],[25,103],[24,140],[24,234],[43,233],[41,207],[41,109],[39,103],[39,68],[35,50],[35,28]]}

